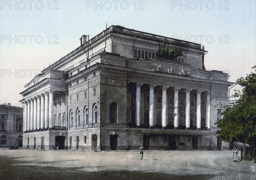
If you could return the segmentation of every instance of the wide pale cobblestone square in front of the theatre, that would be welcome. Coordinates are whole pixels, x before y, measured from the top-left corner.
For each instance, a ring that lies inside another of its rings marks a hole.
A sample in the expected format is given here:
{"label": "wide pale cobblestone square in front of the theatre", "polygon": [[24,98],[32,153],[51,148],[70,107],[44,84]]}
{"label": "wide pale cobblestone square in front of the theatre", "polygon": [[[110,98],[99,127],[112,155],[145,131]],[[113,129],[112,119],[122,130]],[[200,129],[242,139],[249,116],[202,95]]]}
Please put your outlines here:
{"label": "wide pale cobblestone square in front of the theatre", "polygon": [[[256,163],[231,151],[0,150],[1,180],[255,180]],[[239,160],[241,157],[239,157]]]}

